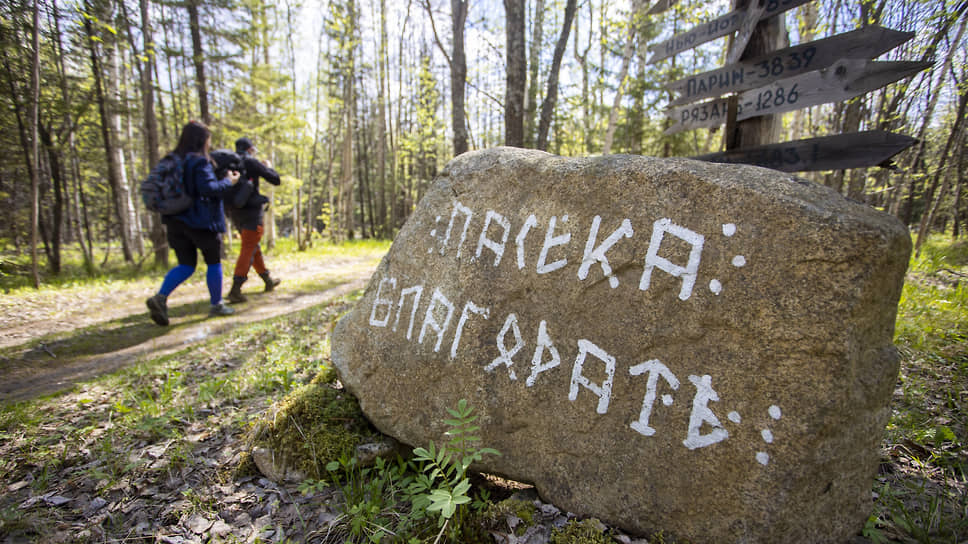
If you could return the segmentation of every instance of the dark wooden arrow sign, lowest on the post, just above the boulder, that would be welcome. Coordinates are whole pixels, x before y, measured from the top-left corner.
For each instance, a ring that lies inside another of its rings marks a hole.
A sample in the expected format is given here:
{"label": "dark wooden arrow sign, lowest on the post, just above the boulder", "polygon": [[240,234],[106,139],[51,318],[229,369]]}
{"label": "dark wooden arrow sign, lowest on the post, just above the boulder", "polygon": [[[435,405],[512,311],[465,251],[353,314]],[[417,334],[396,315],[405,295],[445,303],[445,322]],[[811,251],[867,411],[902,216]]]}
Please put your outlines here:
{"label": "dark wooden arrow sign, lowest on the post, just above the boulder", "polygon": [[781,172],[844,170],[884,164],[917,142],[882,130],[854,132],[692,157],[707,162],[752,164]]}

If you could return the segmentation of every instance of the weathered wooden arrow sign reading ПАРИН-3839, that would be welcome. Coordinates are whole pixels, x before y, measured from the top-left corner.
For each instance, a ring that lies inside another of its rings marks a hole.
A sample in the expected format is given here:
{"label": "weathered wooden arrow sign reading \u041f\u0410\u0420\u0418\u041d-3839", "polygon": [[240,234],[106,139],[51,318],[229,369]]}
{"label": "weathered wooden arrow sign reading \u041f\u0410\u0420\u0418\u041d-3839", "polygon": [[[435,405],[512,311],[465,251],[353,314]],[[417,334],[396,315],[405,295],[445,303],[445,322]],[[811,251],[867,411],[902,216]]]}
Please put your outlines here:
{"label": "weathered wooden arrow sign reading \u041f\u0410\u0420\u0418\u041d-3839", "polygon": [[840,59],[871,59],[914,37],[876,25],[774,51],[718,70],[674,81],[666,88],[679,93],[670,105],[689,104],[762,87],[774,81],[826,68]]}

